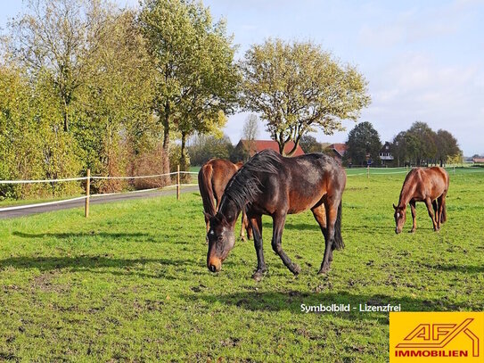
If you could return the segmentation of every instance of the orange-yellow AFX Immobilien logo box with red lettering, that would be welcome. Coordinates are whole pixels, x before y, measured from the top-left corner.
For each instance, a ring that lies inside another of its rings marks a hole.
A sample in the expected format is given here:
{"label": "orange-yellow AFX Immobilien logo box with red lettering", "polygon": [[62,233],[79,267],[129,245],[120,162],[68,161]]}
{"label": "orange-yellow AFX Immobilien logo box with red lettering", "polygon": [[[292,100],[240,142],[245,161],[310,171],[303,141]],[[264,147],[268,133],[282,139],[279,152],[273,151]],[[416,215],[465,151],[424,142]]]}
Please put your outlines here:
{"label": "orange-yellow AFX Immobilien logo box with red lettering", "polygon": [[484,362],[484,313],[390,313],[390,362]]}

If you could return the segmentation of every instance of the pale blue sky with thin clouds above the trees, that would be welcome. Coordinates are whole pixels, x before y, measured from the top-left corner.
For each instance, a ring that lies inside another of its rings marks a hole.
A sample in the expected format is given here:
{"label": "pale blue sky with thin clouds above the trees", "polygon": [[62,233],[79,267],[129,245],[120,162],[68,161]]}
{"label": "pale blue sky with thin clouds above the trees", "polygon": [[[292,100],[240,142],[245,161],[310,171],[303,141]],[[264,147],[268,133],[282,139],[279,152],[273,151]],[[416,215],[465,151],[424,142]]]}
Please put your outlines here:
{"label": "pale blue sky with thin clouds above the trees", "polygon": [[[136,6],[137,0],[118,0]],[[484,0],[317,1],[204,0],[215,20],[225,18],[237,58],[268,37],[312,40],[368,81],[372,103],[358,121],[373,124],[381,141],[422,121],[451,132],[466,156],[484,154]],[[0,27],[21,12],[21,0],[0,0]],[[242,136],[248,113],[231,116],[225,132]],[[344,143],[346,131],[313,134]],[[268,139],[261,122],[259,138]]]}

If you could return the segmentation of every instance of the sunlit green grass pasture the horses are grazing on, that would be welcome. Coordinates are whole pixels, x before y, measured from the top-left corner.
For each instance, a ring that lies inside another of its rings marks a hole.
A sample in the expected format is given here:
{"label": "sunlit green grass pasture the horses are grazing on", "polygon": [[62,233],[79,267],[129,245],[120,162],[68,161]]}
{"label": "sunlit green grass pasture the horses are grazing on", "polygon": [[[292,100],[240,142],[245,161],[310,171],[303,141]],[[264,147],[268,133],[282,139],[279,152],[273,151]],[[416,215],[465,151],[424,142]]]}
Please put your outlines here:
{"label": "sunlit green grass pasture the horses are grazing on", "polygon": [[310,213],[283,234],[298,277],[272,252],[268,218],[261,282],[251,242],[211,274],[198,194],[93,205],[87,220],[78,209],[0,221],[0,360],[385,362],[388,313],[300,304],[482,310],[484,173],[451,174],[447,224],[434,233],[417,204],[413,235],[394,233],[405,174],[352,173],[346,249],[327,276],[316,275],[324,239]]}

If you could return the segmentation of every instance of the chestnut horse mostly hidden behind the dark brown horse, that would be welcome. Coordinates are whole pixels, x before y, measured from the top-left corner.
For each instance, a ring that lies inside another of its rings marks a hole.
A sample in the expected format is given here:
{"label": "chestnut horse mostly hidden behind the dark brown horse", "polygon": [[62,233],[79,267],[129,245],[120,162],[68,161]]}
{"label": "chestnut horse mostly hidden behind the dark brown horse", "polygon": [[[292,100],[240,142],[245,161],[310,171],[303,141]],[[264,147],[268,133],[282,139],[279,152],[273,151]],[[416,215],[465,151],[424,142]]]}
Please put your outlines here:
{"label": "chestnut horse mostly hidden behind the dark brown horse", "polygon": [[[198,173],[198,186],[203,202],[203,214],[205,215],[207,232],[209,232],[209,219],[217,212],[228,181],[238,169],[242,168],[242,165],[242,162],[234,164],[225,159],[210,159],[201,167]],[[252,230],[249,227],[249,221],[245,213],[242,213],[240,235],[242,241],[245,241],[244,229],[247,230],[247,236],[250,238],[252,236]]]}

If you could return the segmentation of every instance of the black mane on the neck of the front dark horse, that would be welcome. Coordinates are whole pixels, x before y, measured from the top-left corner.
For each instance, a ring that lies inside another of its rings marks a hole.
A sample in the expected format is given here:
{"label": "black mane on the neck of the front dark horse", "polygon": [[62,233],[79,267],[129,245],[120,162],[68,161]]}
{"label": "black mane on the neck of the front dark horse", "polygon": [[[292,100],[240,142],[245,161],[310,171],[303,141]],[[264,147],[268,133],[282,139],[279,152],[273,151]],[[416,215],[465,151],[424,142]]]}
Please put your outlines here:
{"label": "black mane on the neck of the front dark horse", "polygon": [[224,199],[229,198],[239,210],[243,210],[248,202],[253,202],[257,195],[262,192],[258,173],[275,174],[281,162],[281,155],[273,150],[263,150],[256,153],[230,179],[220,205],[224,204]]}

